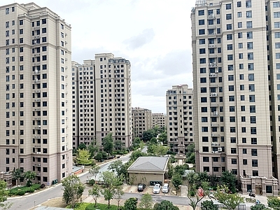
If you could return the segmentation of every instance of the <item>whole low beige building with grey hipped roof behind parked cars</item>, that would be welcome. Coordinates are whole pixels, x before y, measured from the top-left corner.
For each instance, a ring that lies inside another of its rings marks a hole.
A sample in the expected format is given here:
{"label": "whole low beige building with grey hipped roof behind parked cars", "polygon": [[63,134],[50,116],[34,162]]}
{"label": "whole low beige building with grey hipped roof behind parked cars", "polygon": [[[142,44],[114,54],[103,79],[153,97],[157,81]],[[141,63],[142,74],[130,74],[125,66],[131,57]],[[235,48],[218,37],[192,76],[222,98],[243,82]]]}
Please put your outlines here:
{"label": "whole low beige building with grey hipped roof behind parked cars", "polygon": [[167,164],[169,157],[139,157],[127,169],[130,183],[145,183],[154,186],[156,183],[163,185],[167,179]]}

